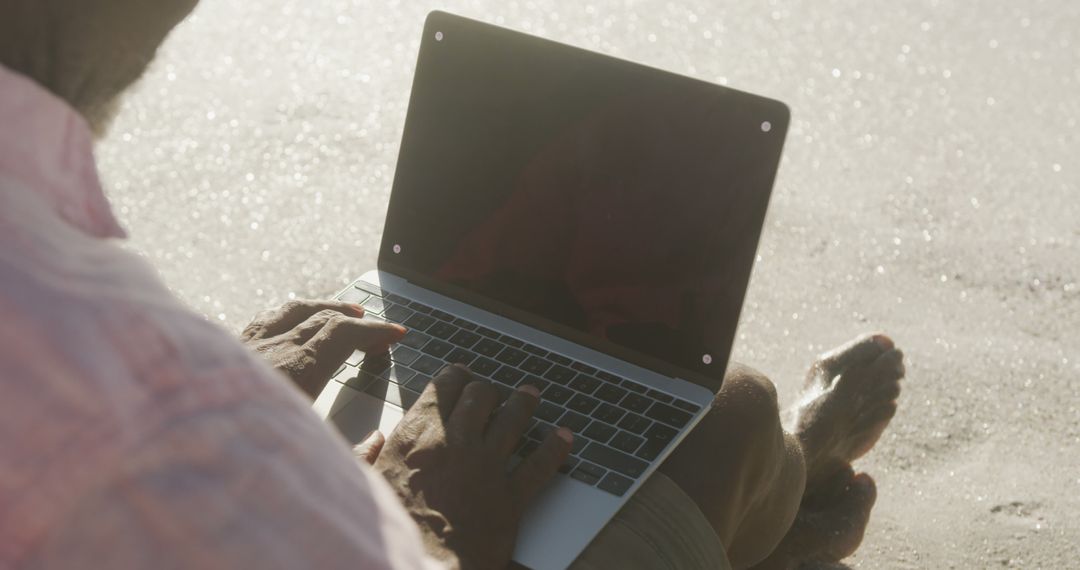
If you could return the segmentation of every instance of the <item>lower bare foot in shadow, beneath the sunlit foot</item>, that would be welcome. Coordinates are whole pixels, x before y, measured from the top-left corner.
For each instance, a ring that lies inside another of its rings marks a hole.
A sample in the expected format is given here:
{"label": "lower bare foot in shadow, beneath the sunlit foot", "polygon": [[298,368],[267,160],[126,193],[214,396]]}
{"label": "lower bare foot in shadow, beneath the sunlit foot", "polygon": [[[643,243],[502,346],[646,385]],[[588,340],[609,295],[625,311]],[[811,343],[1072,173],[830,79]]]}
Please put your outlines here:
{"label": "lower bare foot in shadow, beneath the sunlit foot", "polygon": [[819,491],[819,500],[804,502],[783,541],[755,570],[836,562],[859,548],[877,499],[874,479],[847,467],[823,481]]}

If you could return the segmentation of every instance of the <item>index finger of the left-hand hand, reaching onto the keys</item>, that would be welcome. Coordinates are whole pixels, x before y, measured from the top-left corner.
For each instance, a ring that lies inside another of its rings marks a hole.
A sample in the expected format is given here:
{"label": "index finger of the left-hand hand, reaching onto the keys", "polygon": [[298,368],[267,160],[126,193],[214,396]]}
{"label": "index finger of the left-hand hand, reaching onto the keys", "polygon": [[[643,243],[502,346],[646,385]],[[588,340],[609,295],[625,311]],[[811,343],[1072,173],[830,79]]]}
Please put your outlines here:
{"label": "index finger of the left-hand hand, reaching onto the keys", "polygon": [[403,336],[405,328],[401,325],[335,315],[305,343],[305,348],[314,357],[316,377],[329,378],[353,351],[384,352]]}

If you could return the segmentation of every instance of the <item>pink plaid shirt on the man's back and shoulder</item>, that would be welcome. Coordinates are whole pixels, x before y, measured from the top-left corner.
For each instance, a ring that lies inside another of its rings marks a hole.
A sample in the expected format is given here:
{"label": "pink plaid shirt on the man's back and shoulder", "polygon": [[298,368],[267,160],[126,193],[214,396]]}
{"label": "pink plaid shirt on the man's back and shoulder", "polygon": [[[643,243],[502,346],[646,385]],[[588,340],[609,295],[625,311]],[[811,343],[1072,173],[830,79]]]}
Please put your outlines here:
{"label": "pink plaid shirt on the man's back and shoulder", "polygon": [[389,486],[185,309],[83,120],[0,67],[0,568],[431,568]]}

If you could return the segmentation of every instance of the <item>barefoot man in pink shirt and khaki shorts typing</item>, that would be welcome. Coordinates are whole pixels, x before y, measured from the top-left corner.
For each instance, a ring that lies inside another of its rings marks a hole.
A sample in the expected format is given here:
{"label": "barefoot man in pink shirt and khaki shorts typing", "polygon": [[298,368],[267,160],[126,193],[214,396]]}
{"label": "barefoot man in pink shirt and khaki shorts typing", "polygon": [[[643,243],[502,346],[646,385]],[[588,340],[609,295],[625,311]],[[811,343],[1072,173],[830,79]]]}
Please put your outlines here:
{"label": "barefoot man in pink shirt and khaki shorts typing", "polygon": [[[93,135],[194,4],[0,4],[0,567],[505,567],[573,437],[553,432],[507,472],[535,389],[497,408],[490,385],[450,367],[392,434],[350,450],[310,396],[401,327],[291,301],[241,343],[118,243]],[[732,366],[575,566],[850,555],[876,492],[851,462],[895,413],[903,376],[888,337],[856,339],[812,365],[785,432],[768,379]]]}

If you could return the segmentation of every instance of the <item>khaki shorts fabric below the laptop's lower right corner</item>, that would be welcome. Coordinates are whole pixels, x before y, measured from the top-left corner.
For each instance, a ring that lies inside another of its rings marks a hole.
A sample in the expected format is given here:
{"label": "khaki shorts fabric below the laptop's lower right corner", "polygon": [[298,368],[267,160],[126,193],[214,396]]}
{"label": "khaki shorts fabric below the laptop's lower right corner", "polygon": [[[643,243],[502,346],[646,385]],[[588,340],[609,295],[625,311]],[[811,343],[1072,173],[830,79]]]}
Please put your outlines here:
{"label": "khaki shorts fabric below the laptop's lower right corner", "polygon": [[683,489],[654,473],[570,566],[572,570],[730,570],[713,526]]}

